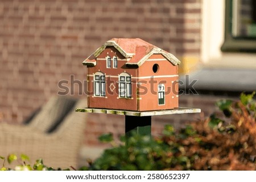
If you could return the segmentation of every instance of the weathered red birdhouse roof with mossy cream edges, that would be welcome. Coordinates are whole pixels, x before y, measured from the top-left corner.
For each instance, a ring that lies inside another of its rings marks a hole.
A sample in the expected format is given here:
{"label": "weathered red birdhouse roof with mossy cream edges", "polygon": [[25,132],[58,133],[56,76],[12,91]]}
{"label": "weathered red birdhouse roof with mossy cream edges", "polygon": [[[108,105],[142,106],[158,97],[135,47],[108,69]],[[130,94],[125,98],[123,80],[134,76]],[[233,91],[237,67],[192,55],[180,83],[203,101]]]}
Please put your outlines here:
{"label": "weathered red birdhouse roof with mossy cream edges", "polygon": [[152,54],[162,54],[166,60],[173,65],[179,65],[180,61],[171,53],[158,48],[155,45],[147,43],[142,39],[111,39],[106,41],[104,45],[98,48],[92,55],[90,55],[84,62],[84,65],[95,66],[96,58],[108,47],[114,46],[125,58],[129,58],[126,65],[129,67],[141,66]]}

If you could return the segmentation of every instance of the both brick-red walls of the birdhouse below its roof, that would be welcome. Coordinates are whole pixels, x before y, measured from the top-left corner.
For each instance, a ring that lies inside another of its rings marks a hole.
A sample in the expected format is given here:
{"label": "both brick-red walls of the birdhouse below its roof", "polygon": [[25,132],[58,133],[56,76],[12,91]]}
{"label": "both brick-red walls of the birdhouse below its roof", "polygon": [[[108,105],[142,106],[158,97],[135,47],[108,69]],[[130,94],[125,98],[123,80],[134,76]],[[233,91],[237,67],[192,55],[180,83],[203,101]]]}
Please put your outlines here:
{"label": "both brick-red walls of the birdhouse below its roof", "polygon": [[[117,66],[114,66],[114,57],[118,60]],[[153,111],[179,106],[177,66],[162,54],[153,54],[139,67],[127,67],[127,59],[109,46],[96,58],[96,62],[96,66],[88,67],[89,108]],[[104,81],[96,81],[96,75]],[[121,77],[125,79],[122,83],[125,96],[120,94]],[[130,79],[128,82],[127,77]],[[102,87],[105,87],[104,95]]]}

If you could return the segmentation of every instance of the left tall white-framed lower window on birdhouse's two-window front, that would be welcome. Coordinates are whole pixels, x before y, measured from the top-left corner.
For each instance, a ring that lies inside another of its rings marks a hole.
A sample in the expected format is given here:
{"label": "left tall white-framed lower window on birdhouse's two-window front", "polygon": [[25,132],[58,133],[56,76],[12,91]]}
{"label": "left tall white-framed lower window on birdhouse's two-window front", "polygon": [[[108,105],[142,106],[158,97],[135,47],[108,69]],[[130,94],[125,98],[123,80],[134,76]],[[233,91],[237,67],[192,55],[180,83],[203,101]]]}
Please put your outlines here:
{"label": "left tall white-framed lower window on birdhouse's two-window front", "polygon": [[106,96],[105,75],[101,72],[94,74],[94,96]]}

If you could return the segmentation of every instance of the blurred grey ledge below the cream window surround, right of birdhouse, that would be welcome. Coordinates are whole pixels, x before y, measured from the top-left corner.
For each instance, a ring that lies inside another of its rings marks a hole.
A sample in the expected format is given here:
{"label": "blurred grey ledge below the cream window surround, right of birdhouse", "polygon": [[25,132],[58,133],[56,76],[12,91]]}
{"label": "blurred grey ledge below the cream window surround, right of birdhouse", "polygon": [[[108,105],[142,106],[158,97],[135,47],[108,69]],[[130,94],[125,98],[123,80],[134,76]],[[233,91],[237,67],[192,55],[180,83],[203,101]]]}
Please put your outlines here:
{"label": "blurred grey ledge below the cream window surround, right of birdhouse", "polygon": [[193,85],[195,90],[256,91],[255,69],[222,69],[216,67],[204,67],[195,73],[189,73],[189,81],[185,81],[185,75],[180,75],[179,79],[181,83],[186,82],[186,84],[180,84],[181,90],[188,89],[189,83],[193,80],[198,80]]}

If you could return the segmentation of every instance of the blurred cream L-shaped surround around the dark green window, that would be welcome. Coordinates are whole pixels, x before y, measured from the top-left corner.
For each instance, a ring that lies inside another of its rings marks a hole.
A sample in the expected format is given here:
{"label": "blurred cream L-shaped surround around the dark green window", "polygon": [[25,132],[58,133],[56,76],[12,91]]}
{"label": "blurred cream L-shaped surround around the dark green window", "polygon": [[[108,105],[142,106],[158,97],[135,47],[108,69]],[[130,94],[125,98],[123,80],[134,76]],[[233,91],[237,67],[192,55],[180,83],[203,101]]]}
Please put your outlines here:
{"label": "blurred cream L-shaped surround around the dark green window", "polygon": [[201,62],[207,67],[256,69],[256,54],[221,52],[225,35],[225,1],[202,1]]}

